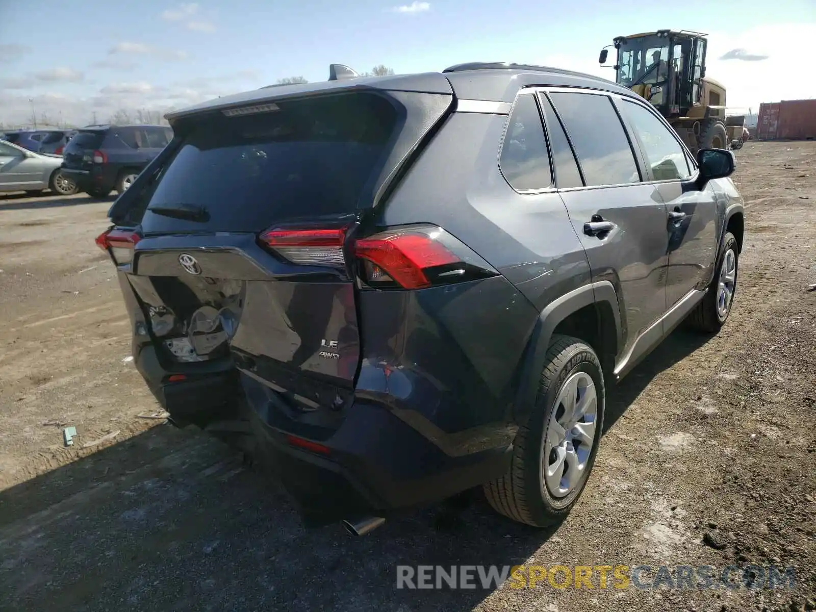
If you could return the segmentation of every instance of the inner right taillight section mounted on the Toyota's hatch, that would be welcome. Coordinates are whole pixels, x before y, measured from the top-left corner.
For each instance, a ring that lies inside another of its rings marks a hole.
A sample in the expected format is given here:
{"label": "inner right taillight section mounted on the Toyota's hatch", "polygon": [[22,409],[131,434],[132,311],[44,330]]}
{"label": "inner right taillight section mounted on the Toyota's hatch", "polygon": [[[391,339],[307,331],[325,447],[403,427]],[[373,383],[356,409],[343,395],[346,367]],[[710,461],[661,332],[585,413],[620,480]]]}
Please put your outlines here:
{"label": "inner right taillight section mounted on the Toyota's hatch", "polygon": [[262,233],[260,240],[293,264],[342,268],[345,265],[343,245],[347,229],[275,228]]}

